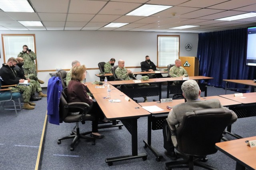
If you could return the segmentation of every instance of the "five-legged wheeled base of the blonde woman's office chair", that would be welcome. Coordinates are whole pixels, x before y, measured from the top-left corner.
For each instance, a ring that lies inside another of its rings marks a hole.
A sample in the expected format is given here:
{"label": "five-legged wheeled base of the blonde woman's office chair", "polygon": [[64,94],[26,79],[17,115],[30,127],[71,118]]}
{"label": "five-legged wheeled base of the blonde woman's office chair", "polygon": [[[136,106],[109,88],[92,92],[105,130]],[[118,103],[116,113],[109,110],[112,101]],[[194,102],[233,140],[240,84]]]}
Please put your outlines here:
{"label": "five-legged wheeled base of the blonde woman's office chair", "polygon": [[66,137],[62,137],[62,138],[58,139],[58,144],[60,145],[61,141],[64,140],[64,139],[72,139],[72,138],[74,138],[72,143],[70,144],[70,150],[71,151],[74,150],[74,145],[76,144],[76,142],[80,138],[86,139],[86,141],[92,141],[92,145],[95,145],[96,143],[95,143],[95,139],[94,138],[85,136],[85,135],[88,135],[90,133],[92,133],[92,132],[90,131],[90,132],[86,132],[86,133],[81,133],[80,134],[80,130],[79,130],[79,127],[78,127],[78,122],[77,122],[76,123],[76,131],[72,131],[70,136],[66,136]]}

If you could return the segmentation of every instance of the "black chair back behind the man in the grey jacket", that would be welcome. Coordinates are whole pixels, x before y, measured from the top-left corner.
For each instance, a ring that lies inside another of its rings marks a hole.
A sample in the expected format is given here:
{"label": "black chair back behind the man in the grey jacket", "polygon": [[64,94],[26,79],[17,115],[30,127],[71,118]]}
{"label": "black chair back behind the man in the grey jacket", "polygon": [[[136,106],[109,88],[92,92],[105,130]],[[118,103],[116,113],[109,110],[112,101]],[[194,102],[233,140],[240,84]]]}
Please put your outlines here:
{"label": "black chair back behind the man in the grey jacket", "polygon": [[231,111],[222,108],[185,113],[182,124],[177,129],[177,150],[197,156],[214,154],[217,152],[215,143],[220,142],[231,117]]}

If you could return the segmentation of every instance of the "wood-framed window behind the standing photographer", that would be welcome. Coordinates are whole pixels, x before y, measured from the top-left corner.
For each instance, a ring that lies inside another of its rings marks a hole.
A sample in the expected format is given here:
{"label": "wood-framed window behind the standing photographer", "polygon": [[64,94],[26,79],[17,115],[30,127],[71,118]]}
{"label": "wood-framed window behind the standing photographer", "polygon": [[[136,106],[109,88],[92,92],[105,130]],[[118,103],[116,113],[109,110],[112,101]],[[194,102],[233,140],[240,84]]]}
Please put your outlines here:
{"label": "wood-framed window behind the standing photographer", "polygon": [[18,54],[23,50],[23,45],[27,45],[29,49],[36,53],[34,34],[2,34],[2,45],[4,63],[10,57],[17,58]]}

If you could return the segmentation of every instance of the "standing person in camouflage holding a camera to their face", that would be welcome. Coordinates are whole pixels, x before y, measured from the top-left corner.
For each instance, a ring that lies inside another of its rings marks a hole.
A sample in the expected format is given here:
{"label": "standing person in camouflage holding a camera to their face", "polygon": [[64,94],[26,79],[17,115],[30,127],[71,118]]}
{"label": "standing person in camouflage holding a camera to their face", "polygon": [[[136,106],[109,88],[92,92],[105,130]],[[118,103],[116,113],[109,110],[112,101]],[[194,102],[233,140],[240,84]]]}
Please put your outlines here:
{"label": "standing person in camouflage holding a camera to their face", "polygon": [[36,64],[34,60],[36,59],[36,54],[33,51],[28,51],[28,46],[23,45],[23,51],[18,54],[18,57],[24,59],[24,72],[29,75],[30,79],[37,80],[40,84],[44,84],[44,81],[39,80],[37,77]]}

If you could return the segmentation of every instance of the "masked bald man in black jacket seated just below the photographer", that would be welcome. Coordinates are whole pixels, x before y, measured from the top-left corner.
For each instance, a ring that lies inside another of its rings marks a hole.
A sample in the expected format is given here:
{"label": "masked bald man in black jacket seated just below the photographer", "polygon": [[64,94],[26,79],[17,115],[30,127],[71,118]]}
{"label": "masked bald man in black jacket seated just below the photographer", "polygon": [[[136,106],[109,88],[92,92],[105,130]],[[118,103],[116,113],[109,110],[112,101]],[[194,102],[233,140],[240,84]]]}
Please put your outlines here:
{"label": "masked bald man in black jacket seated just below the photographer", "polygon": [[[35,91],[38,92],[38,97],[39,97],[38,99],[42,99],[42,97],[47,97],[47,94],[42,93],[42,88],[41,88],[39,82],[37,80],[31,80],[29,78],[29,76],[25,74],[24,68],[22,67],[24,65],[24,59],[21,57],[17,57],[16,60],[18,61],[18,63],[15,66],[14,70],[16,71],[17,76],[19,78],[28,80],[28,82],[30,82],[30,84],[32,84],[34,86],[34,88],[36,89]],[[35,96],[35,91],[32,93],[32,97],[31,97],[31,99],[34,101],[36,101],[36,99],[37,99],[37,97]]]}

